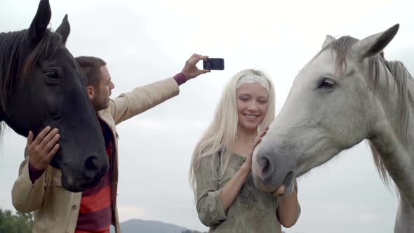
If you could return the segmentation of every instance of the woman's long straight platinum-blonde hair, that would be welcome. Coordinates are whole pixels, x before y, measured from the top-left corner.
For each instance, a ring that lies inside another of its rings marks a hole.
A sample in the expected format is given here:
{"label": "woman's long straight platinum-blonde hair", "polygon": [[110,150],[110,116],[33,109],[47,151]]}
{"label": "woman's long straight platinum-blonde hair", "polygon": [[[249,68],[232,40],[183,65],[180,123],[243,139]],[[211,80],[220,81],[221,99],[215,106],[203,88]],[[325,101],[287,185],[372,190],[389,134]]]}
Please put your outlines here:
{"label": "woman's long straight platinum-blonde hair", "polygon": [[[265,126],[273,121],[275,115],[275,93],[272,81],[269,79],[265,72],[255,69],[243,69],[232,77],[227,84],[225,91],[222,93],[222,97],[215,109],[213,121],[208,126],[206,133],[203,134],[201,140],[197,143],[194,152],[192,154],[192,161],[189,171],[189,180],[191,187],[194,191],[194,197],[196,197],[196,169],[199,167],[199,161],[203,157],[208,157],[221,152],[220,159],[224,162],[224,166],[221,166],[220,173],[215,179],[222,178],[227,165],[229,164],[230,151],[229,147],[236,141],[237,125],[239,117],[236,109],[236,85],[237,81],[246,74],[255,74],[262,76],[269,81],[270,91],[269,99],[267,100],[267,112],[262,123],[258,127],[258,132]],[[213,169],[213,159],[211,159]]]}

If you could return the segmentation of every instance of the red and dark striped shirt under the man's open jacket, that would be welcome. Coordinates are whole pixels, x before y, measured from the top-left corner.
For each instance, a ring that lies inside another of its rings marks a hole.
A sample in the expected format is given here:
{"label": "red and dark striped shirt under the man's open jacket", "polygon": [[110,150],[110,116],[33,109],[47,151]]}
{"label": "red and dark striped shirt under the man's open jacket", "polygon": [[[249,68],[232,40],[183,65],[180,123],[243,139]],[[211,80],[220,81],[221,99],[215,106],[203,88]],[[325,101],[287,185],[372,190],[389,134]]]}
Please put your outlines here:
{"label": "red and dark striped shirt under the man's open jacket", "polygon": [[[109,161],[111,161],[112,133],[107,124],[100,121],[100,125]],[[109,233],[111,223],[111,178],[108,171],[98,185],[82,192],[78,222],[74,233]]]}

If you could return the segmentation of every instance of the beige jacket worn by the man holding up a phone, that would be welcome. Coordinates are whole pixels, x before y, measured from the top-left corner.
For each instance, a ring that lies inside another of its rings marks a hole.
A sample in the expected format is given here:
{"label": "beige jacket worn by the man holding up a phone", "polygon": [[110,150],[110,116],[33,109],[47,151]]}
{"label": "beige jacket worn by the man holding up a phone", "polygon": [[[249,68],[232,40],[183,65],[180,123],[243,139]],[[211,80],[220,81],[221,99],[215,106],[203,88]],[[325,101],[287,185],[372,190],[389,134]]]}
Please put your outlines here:
{"label": "beige jacket worn by the man holding up a phone", "polygon": [[[116,209],[118,185],[118,135],[115,126],[161,102],[178,95],[180,89],[175,79],[164,79],[147,86],[135,88],[109,102],[109,107],[98,112],[98,118],[111,128],[112,137],[112,224],[119,233]],[[22,161],[19,176],[12,189],[12,201],[22,213],[34,211],[33,233],[73,233],[79,215],[82,193],[62,188],[60,170],[51,166],[32,184],[29,179],[28,158]]]}

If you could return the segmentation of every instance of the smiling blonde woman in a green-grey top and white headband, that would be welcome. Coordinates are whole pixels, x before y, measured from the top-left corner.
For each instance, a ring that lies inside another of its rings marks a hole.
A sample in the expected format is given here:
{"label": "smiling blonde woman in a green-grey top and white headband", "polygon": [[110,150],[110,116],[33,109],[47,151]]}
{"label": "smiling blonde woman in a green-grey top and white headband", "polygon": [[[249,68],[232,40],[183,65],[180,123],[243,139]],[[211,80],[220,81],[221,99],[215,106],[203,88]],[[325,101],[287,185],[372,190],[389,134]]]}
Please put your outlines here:
{"label": "smiling blonde woman in a green-grey top and white headband", "polygon": [[[264,72],[245,69],[227,87],[196,145],[190,180],[199,219],[210,232],[281,232],[298,220],[297,188],[262,192],[253,183],[253,149],[274,119],[275,93]],[[260,132],[260,133],[258,133]],[[283,195],[281,195],[283,194]]]}

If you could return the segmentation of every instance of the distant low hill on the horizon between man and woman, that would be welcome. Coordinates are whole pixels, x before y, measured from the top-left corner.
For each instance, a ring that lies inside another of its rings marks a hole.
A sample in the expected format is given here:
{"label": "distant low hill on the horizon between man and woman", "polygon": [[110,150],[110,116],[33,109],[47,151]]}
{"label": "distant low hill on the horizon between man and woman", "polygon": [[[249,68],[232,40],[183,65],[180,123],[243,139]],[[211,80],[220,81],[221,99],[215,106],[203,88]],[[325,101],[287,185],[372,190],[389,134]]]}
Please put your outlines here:
{"label": "distant low hill on the horizon between man and woman", "polygon": [[[121,222],[122,233],[201,233],[165,222],[133,219]],[[111,233],[115,232],[113,227]]]}

